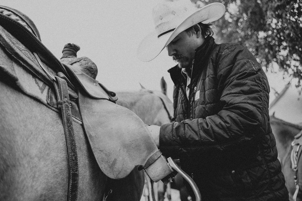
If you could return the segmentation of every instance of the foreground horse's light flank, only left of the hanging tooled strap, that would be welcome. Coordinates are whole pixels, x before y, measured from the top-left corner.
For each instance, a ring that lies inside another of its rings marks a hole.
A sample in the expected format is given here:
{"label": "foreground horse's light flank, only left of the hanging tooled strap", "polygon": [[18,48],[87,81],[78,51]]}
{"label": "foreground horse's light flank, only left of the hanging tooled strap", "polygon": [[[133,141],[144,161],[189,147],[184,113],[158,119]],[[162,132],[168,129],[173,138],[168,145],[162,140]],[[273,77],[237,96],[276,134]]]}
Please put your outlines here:
{"label": "foreground horse's light flank, only left of the hanging tooled strap", "polygon": [[59,115],[5,83],[0,82],[0,90],[0,199],[66,197],[67,177],[62,175],[67,156]]}

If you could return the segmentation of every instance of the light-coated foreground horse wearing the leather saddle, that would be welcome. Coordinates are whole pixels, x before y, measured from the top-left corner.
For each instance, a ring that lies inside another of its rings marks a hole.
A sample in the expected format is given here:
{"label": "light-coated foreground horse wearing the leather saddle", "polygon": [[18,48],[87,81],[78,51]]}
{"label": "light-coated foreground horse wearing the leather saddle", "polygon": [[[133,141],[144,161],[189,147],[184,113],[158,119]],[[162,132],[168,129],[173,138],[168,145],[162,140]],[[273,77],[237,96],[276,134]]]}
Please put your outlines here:
{"label": "light-coated foreground horse wearing the leather saddle", "polygon": [[143,121],[60,63],[30,18],[0,18],[0,200],[139,200],[138,165],[153,181],[173,171]]}

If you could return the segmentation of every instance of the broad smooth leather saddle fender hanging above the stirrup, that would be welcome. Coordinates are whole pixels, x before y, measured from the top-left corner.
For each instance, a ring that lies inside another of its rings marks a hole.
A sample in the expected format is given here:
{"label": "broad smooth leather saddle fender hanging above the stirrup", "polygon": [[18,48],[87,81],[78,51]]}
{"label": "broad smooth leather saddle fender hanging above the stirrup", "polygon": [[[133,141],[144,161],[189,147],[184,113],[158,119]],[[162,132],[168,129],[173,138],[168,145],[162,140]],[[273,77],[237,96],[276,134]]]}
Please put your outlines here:
{"label": "broad smooth leather saddle fender hanging above the stirrup", "polygon": [[158,150],[143,121],[129,109],[81,91],[79,105],[95,159],[108,177],[126,177]]}

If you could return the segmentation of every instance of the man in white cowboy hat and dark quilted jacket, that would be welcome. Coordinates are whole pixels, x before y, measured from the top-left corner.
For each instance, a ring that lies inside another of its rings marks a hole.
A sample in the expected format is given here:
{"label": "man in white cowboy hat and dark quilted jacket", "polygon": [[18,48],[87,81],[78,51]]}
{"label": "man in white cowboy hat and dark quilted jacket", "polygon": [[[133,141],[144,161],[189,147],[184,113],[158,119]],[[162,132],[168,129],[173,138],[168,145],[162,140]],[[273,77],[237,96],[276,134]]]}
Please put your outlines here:
{"label": "man in white cowboy hat and dark quilted jacket", "polygon": [[221,3],[197,10],[189,0],[153,8],[156,33],[140,43],[138,58],[150,61],[167,48],[178,64],[169,69],[176,121],[149,131],[166,157],[180,159],[202,200],[288,200],[267,77],[243,46],[211,36],[209,23],[224,12]]}

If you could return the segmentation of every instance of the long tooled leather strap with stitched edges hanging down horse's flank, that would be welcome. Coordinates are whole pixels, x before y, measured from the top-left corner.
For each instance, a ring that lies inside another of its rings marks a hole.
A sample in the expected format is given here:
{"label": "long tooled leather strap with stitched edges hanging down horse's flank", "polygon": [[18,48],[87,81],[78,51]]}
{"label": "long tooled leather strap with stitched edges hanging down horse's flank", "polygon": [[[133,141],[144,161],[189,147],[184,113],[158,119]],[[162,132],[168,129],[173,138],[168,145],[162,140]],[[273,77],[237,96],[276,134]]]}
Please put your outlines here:
{"label": "long tooled leather strap with stitched edges hanging down horse's flank", "polygon": [[68,95],[68,86],[66,80],[56,76],[57,83],[54,82],[58,97],[58,105],[62,111],[62,121],[66,139],[68,155],[68,193],[67,200],[77,200],[79,169],[78,155],[76,150],[76,140],[72,126],[72,114]]}

